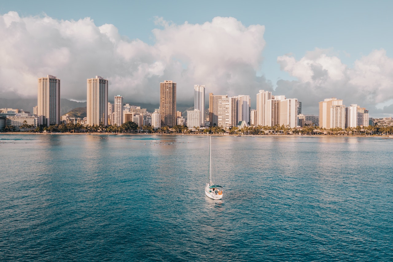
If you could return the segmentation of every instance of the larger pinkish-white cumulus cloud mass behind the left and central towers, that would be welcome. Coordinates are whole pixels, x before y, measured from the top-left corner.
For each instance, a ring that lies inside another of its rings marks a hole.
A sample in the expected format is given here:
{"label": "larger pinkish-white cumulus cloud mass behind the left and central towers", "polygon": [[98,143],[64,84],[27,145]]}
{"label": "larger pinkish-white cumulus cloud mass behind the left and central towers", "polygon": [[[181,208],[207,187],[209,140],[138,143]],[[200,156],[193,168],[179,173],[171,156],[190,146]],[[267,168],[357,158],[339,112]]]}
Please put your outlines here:
{"label": "larger pinkish-white cumulus cloud mass behind the left and central towers", "polygon": [[272,89],[256,76],[262,63],[264,26],[244,26],[231,17],[204,24],[173,24],[156,19],[154,44],[119,35],[112,24],[90,18],[56,20],[0,16],[0,97],[36,97],[37,78],[62,81],[61,97],[86,100],[86,79],[109,80],[109,96],[158,103],[159,83],[177,83],[178,102],[193,99],[193,86],[215,94],[253,94]]}

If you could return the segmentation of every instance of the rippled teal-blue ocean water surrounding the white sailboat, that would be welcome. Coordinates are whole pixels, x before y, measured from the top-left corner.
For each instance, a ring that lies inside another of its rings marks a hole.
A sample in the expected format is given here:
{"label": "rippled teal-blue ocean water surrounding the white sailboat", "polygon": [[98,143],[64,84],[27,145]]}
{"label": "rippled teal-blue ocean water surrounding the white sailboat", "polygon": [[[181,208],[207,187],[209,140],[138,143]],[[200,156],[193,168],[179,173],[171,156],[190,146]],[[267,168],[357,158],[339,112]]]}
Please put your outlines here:
{"label": "rippled teal-blue ocean water surrounding the white sailboat", "polygon": [[393,140],[1,135],[0,261],[393,261]]}

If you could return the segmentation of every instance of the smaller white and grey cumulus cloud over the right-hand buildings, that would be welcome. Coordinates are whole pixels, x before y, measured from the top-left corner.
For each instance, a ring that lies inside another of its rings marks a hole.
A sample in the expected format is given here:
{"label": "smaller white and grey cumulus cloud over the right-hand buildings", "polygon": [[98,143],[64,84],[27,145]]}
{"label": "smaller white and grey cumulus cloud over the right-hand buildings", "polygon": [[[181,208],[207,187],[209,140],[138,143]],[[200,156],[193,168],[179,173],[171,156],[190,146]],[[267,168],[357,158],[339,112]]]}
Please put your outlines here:
{"label": "smaller white and grey cumulus cloud over the right-hand buildings", "polygon": [[331,97],[343,99],[348,106],[366,107],[371,115],[393,113],[387,112],[389,107],[376,107],[393,99],[393,59],[384,49],[373,50],[356,60],[353,67],[344,65],[332,50],[318,48],[299,60],[283,55],[277,62],[281,70],[298,80],[278,81],[275,92],[302,101],[302,113],[318,113],[318,102]]}

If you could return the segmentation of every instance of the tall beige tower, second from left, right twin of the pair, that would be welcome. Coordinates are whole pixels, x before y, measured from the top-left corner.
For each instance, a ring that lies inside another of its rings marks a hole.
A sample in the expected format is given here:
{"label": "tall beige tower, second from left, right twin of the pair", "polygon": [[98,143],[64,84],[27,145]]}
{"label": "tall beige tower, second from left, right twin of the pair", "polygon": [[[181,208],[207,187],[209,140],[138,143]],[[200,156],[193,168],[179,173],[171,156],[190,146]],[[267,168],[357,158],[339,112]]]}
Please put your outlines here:
{"label": "tall beige tower, second from left, right twin of the pair", "polygon": [[87,79],[87,124],[108,125],[108,80],[101,76]]}

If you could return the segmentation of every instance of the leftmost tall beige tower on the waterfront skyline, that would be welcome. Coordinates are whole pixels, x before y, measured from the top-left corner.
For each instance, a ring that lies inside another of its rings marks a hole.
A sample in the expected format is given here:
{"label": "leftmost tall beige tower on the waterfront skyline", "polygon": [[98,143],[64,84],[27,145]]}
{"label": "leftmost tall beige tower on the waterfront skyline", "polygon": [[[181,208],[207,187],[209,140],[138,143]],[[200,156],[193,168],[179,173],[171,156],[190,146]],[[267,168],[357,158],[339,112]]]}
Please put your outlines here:
{"label": "leftmost tall beige tower on the waterfront skyline", "polygon": [[38,125],[60,124],[60,79],[47,75],[38,79]]}

